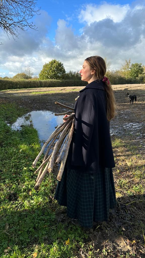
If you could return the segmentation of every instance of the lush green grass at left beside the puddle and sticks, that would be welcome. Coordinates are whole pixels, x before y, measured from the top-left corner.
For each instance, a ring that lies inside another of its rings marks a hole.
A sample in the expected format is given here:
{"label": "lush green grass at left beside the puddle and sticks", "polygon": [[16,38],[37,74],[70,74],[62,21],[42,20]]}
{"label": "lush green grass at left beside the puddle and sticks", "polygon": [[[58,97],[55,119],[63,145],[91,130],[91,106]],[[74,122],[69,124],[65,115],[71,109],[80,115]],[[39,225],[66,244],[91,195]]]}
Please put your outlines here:
{"label": "lush green grass at left beside the puddle and sticks", "polygon": [[[0,118],[0,255],[1,257],[73,257],[88,238],[78,226],[60,223],[61,206],[52,199],[56,180],[46,176],[39,191],[32,163],[40,150],[33,126],[12,131],[10,124],[27,111],[1,105]],[[38,162],[40,164],[42,160]]]}

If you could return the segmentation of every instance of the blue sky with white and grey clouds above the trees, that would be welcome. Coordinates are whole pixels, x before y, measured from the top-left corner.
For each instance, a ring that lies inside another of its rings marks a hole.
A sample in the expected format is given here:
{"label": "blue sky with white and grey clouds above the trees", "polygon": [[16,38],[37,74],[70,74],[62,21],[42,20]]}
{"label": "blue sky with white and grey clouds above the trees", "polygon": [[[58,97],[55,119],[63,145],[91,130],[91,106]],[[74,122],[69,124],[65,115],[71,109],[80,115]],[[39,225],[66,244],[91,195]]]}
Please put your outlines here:
{"label": "blue sky with white and grey clouds above the trees", "polygon": [[14,41],[0,29],[0,76],[13,77],[30,67],[39,75],[52,59],[78,71],[92,55],[107,58],[111,69],[125,59],[145,65],[145,0],[38,0],[38,30],[19,31]]}

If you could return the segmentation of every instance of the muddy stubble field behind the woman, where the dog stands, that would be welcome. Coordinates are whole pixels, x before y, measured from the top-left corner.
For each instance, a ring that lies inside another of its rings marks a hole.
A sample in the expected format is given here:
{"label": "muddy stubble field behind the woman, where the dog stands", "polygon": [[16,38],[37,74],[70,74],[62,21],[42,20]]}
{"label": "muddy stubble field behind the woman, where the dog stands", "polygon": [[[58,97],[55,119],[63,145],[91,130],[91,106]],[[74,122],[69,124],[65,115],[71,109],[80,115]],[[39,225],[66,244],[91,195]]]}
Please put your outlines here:
{"label": "muddy stubble field behind the woman, where the dog stands", "polygon": [[[112,85],[116,98],[117,114],[110,123],[110,134],[131,136],[136,144],[145,145],[145,84]],[[61,102],[74,107],[75,98],[83,87],[33,88],[0,91],[0,101],[15,102],[20,107],[33,110],[65,112],[66,109],[55,104]],[[136,94],[137,102],[130,105],[127,92]],[[137,137],[135,137],[137,135]],[[133,136],[133,137],[132,137]]]}

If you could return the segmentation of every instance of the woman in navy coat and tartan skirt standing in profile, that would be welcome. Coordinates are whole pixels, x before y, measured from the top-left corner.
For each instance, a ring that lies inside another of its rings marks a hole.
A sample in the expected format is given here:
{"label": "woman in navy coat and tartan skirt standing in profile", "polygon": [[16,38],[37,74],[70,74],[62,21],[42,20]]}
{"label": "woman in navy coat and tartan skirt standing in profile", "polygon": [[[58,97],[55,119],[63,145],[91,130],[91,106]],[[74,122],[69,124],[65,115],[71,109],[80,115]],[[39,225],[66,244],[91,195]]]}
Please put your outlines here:
{"label": "woman in navy coat and tartan skirt standing in profile", "polygon": [[[75,129],[63,176],[54,199],[67,206],[67,215],[91,228],[108,221],[116,206],[112,167],[115,167],[109,121],[115,115],[115,98],[99,56],[88,57],[80,74],[88,85],[76,100]],[[68,115],[65,115],[65,117]]]}

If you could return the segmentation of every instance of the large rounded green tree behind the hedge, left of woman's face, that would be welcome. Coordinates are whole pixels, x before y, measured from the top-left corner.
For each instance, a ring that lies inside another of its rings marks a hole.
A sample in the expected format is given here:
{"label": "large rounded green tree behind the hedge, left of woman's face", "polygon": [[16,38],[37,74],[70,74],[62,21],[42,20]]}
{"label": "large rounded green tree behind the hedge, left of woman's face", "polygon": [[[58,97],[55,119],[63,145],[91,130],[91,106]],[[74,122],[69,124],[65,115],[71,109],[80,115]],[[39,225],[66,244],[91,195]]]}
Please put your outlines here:
{"label": "large rounded green tree behind the hedge, left of woman's face", "polygon": [[39,73],[39,79],[64,79],[66,75],[63,63],[52,59],[49,63],[45,63],[41,72]]}

